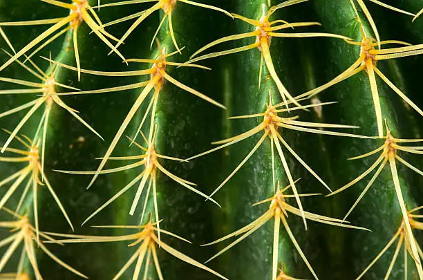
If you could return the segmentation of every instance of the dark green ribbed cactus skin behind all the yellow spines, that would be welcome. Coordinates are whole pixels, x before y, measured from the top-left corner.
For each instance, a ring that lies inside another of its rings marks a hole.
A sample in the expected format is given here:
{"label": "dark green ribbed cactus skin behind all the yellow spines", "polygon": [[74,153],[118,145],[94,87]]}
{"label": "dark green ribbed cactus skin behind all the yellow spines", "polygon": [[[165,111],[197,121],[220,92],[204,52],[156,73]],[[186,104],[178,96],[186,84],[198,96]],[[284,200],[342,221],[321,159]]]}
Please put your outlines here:
{"label": "dark green ribbed cactus skin behind all the yellow spines", "polygon": [[[113,2],[112,0],[102,0],[102,4]],[[263,5],[266,10],[268,9],[267,0],[209,0],[200,2],[251,19],[260,19]],[[272,5],[276,5],[280,1],[271,0],[271,2]],[[386,2],[388,1],[386,0]],[[90,3],[95,6],[97,1],[90,1]],[[388,4],[412,12],[417,12],[422,8],[422,3],[418,0],[395,0]],[[102,22],[107,23],[149,7],[151,7],[151,3],[136,3],[128,6],[101,8],[100,12],[97,13]],[[358,5],[357,8],[359,8]],[[399,39],[409,41],[412,44],[421,43],[423,34],[420,31],[422,29],[420,28],[422,26],[420,18],[411,23],[411,17],[386,10],[373,3],[369,3],[368,8],[373,15],[373,19],[375,19],[381,39]],[[57,8],[39,0],[21,0],[13,1],[13,3],[10,3],[10,0],[0,0],[0,22],[48,19],[66,17],[66,15],[68,14],[63,8]],[[125,40],[125,44],[122,44],[119,48],[126,59],[156,58],[158,46],[153,44],[153,48],[150,50],[149,45],[163,17],[164,12],[160,10],[160,12],[155,12],[147,17],[140,26],[135,28]],[[386,21],[386,17],[392,17],[392,20]],[[278,10],[274,18],[285,19],[289,22],[319,21],[322,24],[322,26],[295,28],[292,32],[330,32],[356,40],[361,39],[356,15],[349,0],[312,0],[310,3],[299,3]],[[366,32],[373,34],[366,17],[360,14],[360,19],[364,23]],[[126,21],[109,26],[106,30],[112,35],[120,37],[128,30],[132,22]],[[196,50],[220,37],[254,31],[251,25],[238,19],[231,19],[221,12],[182,2],[178,2],[172,12],[172,25],[178,46],[185,46],[182,55],[178,54],[171,57],[172,62],[186,62]],[[4,26],[2,29],[15,49],[19,50],[28,44],[28,41],[43,32],[46,26]],[[144,69],[145,65],[151,67],[151,64],[137,63],[130,63],[129,66],[126,66],[118,55],[112,53],[107,56],[110,48],[94,34],[90,35],[90,32],[91,30],[85,24],[82,24],[78,30],[78,47],[82,68],[95,71],[129,71]],[[290,32],[290,30],[287,32]],[[168,53],[175,50],[167,24],[164,24],[158,32],[158,39]],[[222,46],[215,46],[211,51],[245,46],[252,44],[253,40],[254,38],[229,41]],[[6,41],[3,39],[0,39],[0,46],[10,52]],[[66,35],[55,40],[33,57],[34,62],[43,71],[49,71],[51,66],[46,59],[41,59],[39,55],[49,57],[50,52],[52,59],[75,66],[71,31],[68,31]],[[357,59],[359,46],[352,46],[341,39],[332,38],[273,38],[270,52],[276,73],[288,91],[296,96],[325,84],[348,68]],[[210,53],[209,50],[207,50],[207,53]],[[8,60],[8,56],[1,52],[0,59],[0,64],[3,64]],[[23,59],[21,57],[21,60]],[[218,106],[214,106],[170,82],[166,82],[162,91],[160,91],[154,120],[157,125],[157,137],[154,142],[156,151],[162,155],[176,158],[189,158],[212,149],[213,146],[210,144],[212,141],[236,136],[259,124],[262,118],[241,120],[227,120],[227,118],[234,115],[264,112],[266,104],[269,102],[269,95],[272,97],[273,104],[282,101],[278,88],[264,64],[261,87],[259,88],[260,59],[260,50],[254,48],[242,53],[198,62],[198,64],[212,68],[211,71],[169,66],[167,68],[169,75],[182,84],[195,88],[200,93],[204,93],[224,104],[227,110],[220,109]],[[377,65],[417,106],[423,108],[421,88],[418,82],[420,81],[419,66],[421,65],[419,62],[422,62],[421,56],[386,60],[378,62]],[[36,81],[16,62],[1,71],[0,77]],[[83,91],[149,80],[149,76],[102,77],[82,73],[81,80],[78,82],[77,73],[66,68],[59,68],[56,77],[58,82],[75,86]],[[377,85],[382,113],[393,136],[411,139],[422,138],[422,116],[413,109],[409,109],[382,80],[379,79]],[[14,88],[22,87],[6,82],[0,83],[0,90]],[[61,91],[59,91],[59,88],[56,89],[58,92],[62,92],[62,89]],[[86,225],[80,226],[88,215],[101,207],[124,185],[138,176],[142,168],[100,175],[88,190],[86,186],[90,182],[91,176],[60,174],[53,171],[53,169],[94,171],[98,166],[98,160],[95,160],[95,158],[104,155],[122,120],[124,120],[141,91],[142,88],[137,88],[115,93],[62,97],[68,106],[77,109],[81,117],[101,134],[104,142],[64,109],[53,105],[48,122],[46,142],[46,176],[48,176],[57,196],[68,212],[75,227],[75,234],[97,236],[128,234],[129,232],[125,230],[99,229],[90,227],[90,225],[144,225],[149,221],[149,218],[152,221],[156,220],[151,194],[147,204],[147,216],[143,221],[140,221],[145,190],[135,214],[129,215],[137,185],[103,209]],[[1,100],[3,100],[0,102],[0,113],[36,97],[36,95],[28,96],[0,95]],[[126,128],[124,135],[132,137],[135,134],[144,111],[147,109],[148,101],[142,104],[138,113]],[[375,136],[377,134],[375,109],[368,76],[364,71],[328,88],[323,93],[319,93],[314,99],[301,102],[301,104],[332,101],[339,103],[321,106],[321,108],[317,107],[311,109],[310,112],[294,111],[294,113],[281,113],[281,115],[284,117],[299,115],[299,120],[305,122],[357,125],[359,129],[348,129],[345,132],[364,136]],[[25,124],[21,133],[30,138],[34,136],[41,118],[42,107]],[[24,113],[17,113],[7,118],[1,118],[0,128],[14,129],[23,115]],[[150,120],[147,118],[143,129],[147,136],[150,133],[149,123]],[[373,164],[377,156],[373,155],[359,160],[347,160],[347,158],[367,153],[384,142],[384,140],[377,139],[324,136],[289,129],[281,129],[280,133],[283,134],[283,138],[294,151],[328,183],[333,191],[359,176]],[[257,133],[255,136],[225,149],[209,153],[207,156],[189,162],[161,159],[159,161],[172,174],[196,183],[200,192],[211,194],[251,151],[261,135],[262,133]],[[6,141],[8,134],[1,132],[0,136],[0,144],[3,144],[3,140]],[[144,144],[141,137],[138,137],[138,142]],[[19,142],[13,140],[10,147],[19,147]],[[220,252],[232,242],[233,240],[212,246],[199,246],[238,230],[254,221],[268,209],[268,203],[256,207],[251,207],[251,205],[274,195],[272,151],[270,147],[270,140],[266,139],[245,165],[213,196],[222,208],[217,207],[209,200],[204,201],[201,196],[190,192],[159,171],[156,195],[159,217],[163,219],[160,227],[192,241],[193,244],[183,243],[170,236],[164,236],[164,234],[162,234],[162,240],[200,263],[204,263],[210,256]],[[113,151],[113,156],[133,156],[139,155],[141,152],[134,145],[129,147],[129,140],[122,137]],[[296,184],[300,194],[328,194],[323,185],[304,169],[288,151],[284,150],[284,153],[294,180],[301,178]],[[411,162],[415,167],[422,169],[423,161],[418,155],[400,152],[400,156]],[[289,184],[289,181],[276,148],[274,148],[274,161],[275,178],[279,181],[281,187],[285,187]],[[125,161],[123,163],[129,164],[131,162]],[[122,166],[122,162],[109,160],[106,168],[120,166]],[[0,180],[13,174],[18,170],[18,167],[21,168],[19,163],[1,162]],[[398,162],[397,169],[407,208],[411,209],[422,205],[422,192],[419,186],[423,183],[423,177]],[[362,189],[366,187],[373,173],[374,171],[347,191],[335,196],[301,198],[303,208],[308,212],[342,218],[361,194]],[[6,193],[7,187],[8,185],[0,189],[1,196]],[[22,189],[23,185],[19,187],[17,194],[8,200],[7,207],[15,209],[19,200],[19,192]],[[37,196],[40,230],[73,234],[74,232],[66,223],[46,188],[39,187]],[[289,198],[288,202],[298,207],[294,198]],[[28,213],[30,218],[33,218],[32,196],[28,196],[21,213]],[[9,214],[2,212],[0,216],[1,221],[10,221]],[[312,221],[308,221],[308,230],[306,231],[301,217],[290,214],[287,220],[319,279],[355,279],[384,248],[400,227],[402,221],[402,212],[395,193],[391,170],[388,166],[384,168],[366,196],[347,219],[352,225],[368,227],[372,232],[322,225]],[[271,221],[247,239],[218,256],[218,258],[206,263],[206,265],[228,279],[272,279],[273,232],[274,219],[272,218]],[[417,230],[414,231],[414,234],[417,243],[419,243],[421,234]],[[0,230],[1,239],[9,235],[10,232],[7,230]],[[362,279],[383,279],[390,265],[395,245],[396,243]],[[125,242],[77,243],[66,244],[64,247],[46,244],[46,246],[57,257],[86,274],[89,279],[113,279],[135,250],[135,247],[128,247],[128,243]],[[0,248],[0,255],[3,255],[6,248]],[[218,279],[205,270],[194,268],[192,265],[174,258],[158,246],[156,248],[158,249],[158,258],[164,279]],[[37,263],[44,279],[80,279],[48,258],[39,248],[36,248],[36,250]],[[20,250],[15,252],[1,273],[16,272],[19,253]],[[290,277],[312,279],[312,274],[310,274],[306,264],[303,263],[282,225],[278,255],[278,268],[282,267],[283,272]],[[404,251],[400,250],[389,279],[404,279],[403,263]],[[133,266],[126,271],[121,279],[132,279]],[[28,260],[24,263],[23,271],[29,274],[30,279],[36,279]],[[413,259],[409,255],[407,274],[408,279],[419,279]],[[140,274],[139,279],[142,279],[142,277],[143,273]],[[5,275],[0,274],[0,279],[3,278],[8,279]],[[147,279],[159,279],[153,261],[149,263]],[[279,277],[277,280],[285,279]]]}

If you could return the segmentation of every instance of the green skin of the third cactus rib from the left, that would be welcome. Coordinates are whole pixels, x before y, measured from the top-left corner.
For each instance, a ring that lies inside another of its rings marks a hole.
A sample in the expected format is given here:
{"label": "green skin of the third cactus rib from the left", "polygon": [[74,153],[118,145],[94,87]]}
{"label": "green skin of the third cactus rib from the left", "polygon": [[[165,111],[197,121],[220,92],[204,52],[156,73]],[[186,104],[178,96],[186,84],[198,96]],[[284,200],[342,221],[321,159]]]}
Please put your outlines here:
{"label": "green skin of the third cactus rib from the left", "polygon": [[[262,15],[262,4],[266,1],[234,1],[234,12],[249,17],[251,19],[259,19]],[[238,7],[238,8],[236,8]],[[232,24],[232,28],[223,33],[225,36],[244,32],[254,31],[250,24],[238,21]],[[210,40],[212,41],[212,40]],[[240,43],[229,43],[225,46],[220,46],[217,50],[226,50],[238,46],[245,46],[254,43],[253,39],[244,40]],[[279,44],[278,39],[272,41],[271,51],[272,55],[283,51],[285,48]],[[212,51],[215,51],[214,48]],[[274,52],[277,50],[277,52]],[[230,103],[227,108],[227,115],[248,115],[254,113],[261,113],[265,111],[265,105],[269,102],[269,95],[272,95],[274,104],[281,102],[281,95],[279,94],[276,84],[267,77],[267,68],[263,66],[263,75],[261,88],[259,90],[259,66],[260,66],[261,52],[258,49],[247,50],[243,53],[235,55],[227,55],[220,60],[227,61],[227,75],[231,83]],[[229,62],[229,63],[228,63]],[[275,67],[278,69],[280,77],[283,77],[284,72],[281,72],[285,64],[285,57],[277,57],[274,59]],[[229,68],[230,67],[230,68]],[[283,70],[282,70],[283,71]],[[286,82],[285,79],[283,82]],[[219,139],[225,139],[236,136],[249,129],[252,129],[259,124],[262,118],[252,118],[245,120],[229,120],[228,129],[225,135],[220,136]],[[236,166],[247,156],[256,142],[259,141],[263,133],[257,133],[251,138],[247,138],[242,142],[236,143],[228,148],[225,148],[223,160],[223,170],[219,172],[218,184],[234,170]],[[242,151],[242,152],[241,152]],[[276,148],[274,149],[275,158],[277,158]],[[200,161],[201,159],[198,159]],[[261,147],[254,153],[252,158],[248,160],[245,165],[231,178],[225,186],[218,192],[218,201],[224,201],[223,216],[225,226],[223,230],[216,232],[217,238],[229,234],[238,228],[247,225],[263,214],[268,205],[259,205],[251,207],[253,203],[261,199],[273,195],[272,187],[272,165],[267,164],[272,162],[270,140],[266,139]],[[283,167],[280,160],[275,160],[276,163],[276,180],[281,180],[281,186],[288,185],[288,180],[283,176]],[[270,176],[265,176],[269,174]],[[241,187],[242,186],[242,187]],[[241,187],[241,189],[239,188]],[[242,191],[241,191],[242,190]],[[240,192],[241,191],[241,192]],[[224,274],[229,279],[270,279],[272,277],[272,236],[273,236],[273,221],[269,221],[261,229],[257,230],[248,239],[241,241],[240,244],[218,257],[212,262],[218,262],[222,267]],[[216,238],[215,238],[216,239]],[[279,246],[279,258],[290,268],[293,262],[290,252],[293,251],[290,245],[288,236],[281,233]],[[232,240],[234,241],[234,240]],[[229,242],[232,242],[229,241]],[[220,250],[228,243],[219,244]],[[231,263],[239,263],[239,265],[231,265]],[[263,265],[256,265],[262,263]]]}

